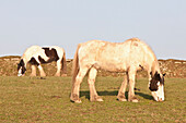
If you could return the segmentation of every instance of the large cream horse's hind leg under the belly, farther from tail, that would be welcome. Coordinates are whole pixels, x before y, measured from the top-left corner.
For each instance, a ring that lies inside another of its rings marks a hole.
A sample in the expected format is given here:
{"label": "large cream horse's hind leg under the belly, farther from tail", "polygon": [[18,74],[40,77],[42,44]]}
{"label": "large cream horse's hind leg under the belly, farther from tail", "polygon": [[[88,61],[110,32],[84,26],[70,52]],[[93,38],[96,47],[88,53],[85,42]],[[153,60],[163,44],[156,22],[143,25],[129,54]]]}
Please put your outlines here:
{"label": "large cream horse's hind leg under the belly, farther from tail", "polygon": [[90,70],[89,73],[89,78],[88,78],[88,83],[89,83],[89,88],[90,88],[90,100],[91,101],[103,101],[103,99],[97,95],[96,90],[95,90],[95,77],[97,74],[97,70],[92,67]]}

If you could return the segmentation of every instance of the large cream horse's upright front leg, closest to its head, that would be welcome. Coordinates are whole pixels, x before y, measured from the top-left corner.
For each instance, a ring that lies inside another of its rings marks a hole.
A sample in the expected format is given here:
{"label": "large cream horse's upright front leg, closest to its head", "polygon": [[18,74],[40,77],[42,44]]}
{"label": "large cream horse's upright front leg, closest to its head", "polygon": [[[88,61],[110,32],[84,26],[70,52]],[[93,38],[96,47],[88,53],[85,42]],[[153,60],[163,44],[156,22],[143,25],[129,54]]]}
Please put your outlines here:
{"label": "large cream horse's upright front leg, closest to its head", "polygon": [[136,81],[136,70],[130,69],[128,72],[128,81],[129,81],[129,93],[128,93],[128,101],[138,102],[137,97],[135,96],[135,81]]}

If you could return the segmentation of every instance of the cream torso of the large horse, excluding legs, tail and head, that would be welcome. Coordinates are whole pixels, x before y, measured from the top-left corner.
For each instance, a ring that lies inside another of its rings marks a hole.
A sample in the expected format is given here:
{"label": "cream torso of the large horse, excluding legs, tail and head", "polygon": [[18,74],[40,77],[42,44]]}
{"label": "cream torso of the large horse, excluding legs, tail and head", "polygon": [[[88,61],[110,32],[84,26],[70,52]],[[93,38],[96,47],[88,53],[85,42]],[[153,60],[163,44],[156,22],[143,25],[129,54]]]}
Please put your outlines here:
{"label": "cream torso of the large horse, excluding legs, tail and head", "polygon": [[143,41],[131,38],[124,42],[91,40],[81,44],[79,49],[80,63],[109,71],[126,71],[132,65],[139,66],[153,52]]}

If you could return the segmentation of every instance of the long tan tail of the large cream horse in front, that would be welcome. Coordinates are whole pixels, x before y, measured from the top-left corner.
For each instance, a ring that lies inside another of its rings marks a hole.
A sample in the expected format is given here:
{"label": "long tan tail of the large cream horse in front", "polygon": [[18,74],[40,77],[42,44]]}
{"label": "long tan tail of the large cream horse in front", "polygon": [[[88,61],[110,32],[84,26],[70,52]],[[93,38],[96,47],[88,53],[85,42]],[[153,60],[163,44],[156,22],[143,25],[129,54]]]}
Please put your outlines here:
{"label": "long tan tail of the large cream horse in front", "polygon": [[73,57],[73,63],[72,63],[72,90],[71,90],[71,96],[73,95],[73,88],[74,88],[74,83],[75,83],[75,77],[78,75],[79,72],[79,49],[80,49],[80,45],[78,45],[77,51],[74,53]]}

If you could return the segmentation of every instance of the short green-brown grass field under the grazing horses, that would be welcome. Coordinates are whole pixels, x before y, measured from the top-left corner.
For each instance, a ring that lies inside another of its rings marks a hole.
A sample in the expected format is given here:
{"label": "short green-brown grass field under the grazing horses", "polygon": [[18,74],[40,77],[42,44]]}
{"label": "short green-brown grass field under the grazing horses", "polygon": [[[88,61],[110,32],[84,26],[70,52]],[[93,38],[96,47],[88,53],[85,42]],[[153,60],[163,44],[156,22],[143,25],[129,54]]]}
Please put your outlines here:
{"label": "short green-brown grass field under the grazing horses", "polygon": [[155,102],[148,79],[137,79],[140,102],[116,100],[121,77],[97,77],[103,102],[89,101],[86,78],[82,103],[70,102],[70,77],[0,77],[0,122],[186,122],[186,78],[166,78],[165,101]]}

